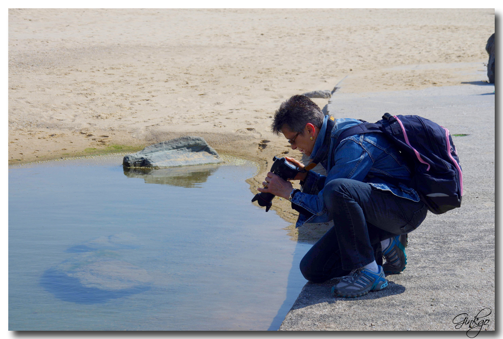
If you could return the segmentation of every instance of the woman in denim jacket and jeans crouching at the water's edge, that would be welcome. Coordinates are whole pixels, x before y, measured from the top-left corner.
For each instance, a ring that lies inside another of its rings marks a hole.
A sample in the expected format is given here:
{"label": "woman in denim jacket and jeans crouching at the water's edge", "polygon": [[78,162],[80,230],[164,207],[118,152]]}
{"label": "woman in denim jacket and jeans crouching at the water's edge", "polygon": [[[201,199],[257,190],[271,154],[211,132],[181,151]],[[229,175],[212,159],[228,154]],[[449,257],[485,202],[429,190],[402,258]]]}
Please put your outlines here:
{"label": "woman in denim jacket and jeans crouching at the water's edge", "polygon": [[258,189],[289,199],[299,212],[296,227],[333,220],[334,226],[301,260],[300,269],[314,283],[344,277],[332,288],[341,297],[381,290],[388,285],[385,273],[405,269],[405,235],[423,222],[428,211],[415,190],[407,187],[411,171],[384,135],[356,134],[334,145],[344,129],[359,123],[324,116],[309,98],[291,97],[276,111],[272,130],[282,133],[292,149],[309,156],[311,163],[321,163],[327,176],[286,158],[303,170],[295,177],[302,191],[271,172],[264,188]]}

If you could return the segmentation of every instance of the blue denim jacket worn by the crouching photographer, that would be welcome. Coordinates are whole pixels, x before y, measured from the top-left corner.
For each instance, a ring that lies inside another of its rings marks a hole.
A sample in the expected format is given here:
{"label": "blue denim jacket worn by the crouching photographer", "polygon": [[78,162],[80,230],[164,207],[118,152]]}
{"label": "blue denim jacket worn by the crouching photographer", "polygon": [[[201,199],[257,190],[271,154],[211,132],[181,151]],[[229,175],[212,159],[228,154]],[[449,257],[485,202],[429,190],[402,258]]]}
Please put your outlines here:
{"label": "blue denim jacket worn by the crouching photographer", "polygon": [[328,222],[328,213],[323,200],[323,186],[333,179],[347,178],[368,182],[374,188],[387,190],[391,193],[419,201],[417,192],[406,186],[410,181],[411,171],[406,166],[398,150],[381,133],[366,133],[352,135],[341,141],[334,149],[340,133],[351,126],[361,123],[356,119],[336,119],[331,131],[326,131],[328,115],[323,119],[310,158],[314,159],[317,152],[323,151],[325,133],[331,133],[327,156],[320,161],[327,175],[308,171],[302,184],[302,192],[297,192],[292,198],[294,205],[307,211],[300,212],[296,227],[304,223]]}

